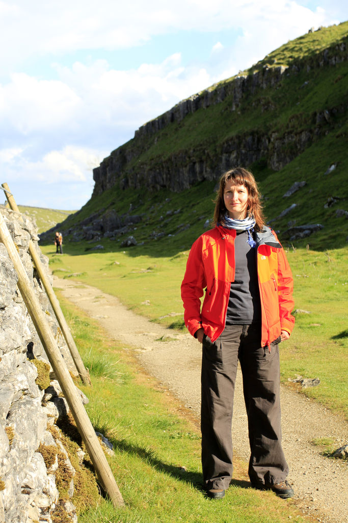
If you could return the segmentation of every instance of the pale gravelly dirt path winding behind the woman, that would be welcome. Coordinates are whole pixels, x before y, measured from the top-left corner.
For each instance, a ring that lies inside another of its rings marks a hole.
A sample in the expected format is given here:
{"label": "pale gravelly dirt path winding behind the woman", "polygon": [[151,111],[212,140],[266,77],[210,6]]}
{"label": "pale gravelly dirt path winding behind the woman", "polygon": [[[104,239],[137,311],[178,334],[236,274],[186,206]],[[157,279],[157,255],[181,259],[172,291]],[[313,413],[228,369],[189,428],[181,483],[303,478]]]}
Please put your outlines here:
{"label": "pale gravelly dirt path winding behind the woman", "polygon": [[[199,418],[201,349],[189,334],[170,331],[127,310],[117,298],[99,289],[54,277],[54,287],[115,339],[133,346],[141,366]],[[165,341],[159,340],[162,336]],[[246,413],[238,371],[233,414],[235,453],[249,457]],[[283,448],[296,504],[323,523],[348,523],[346,462],[320,456],[313,438],[330,437],[338,446],[348,442],[348,424],[330,411],[286,387],[281,390]]]}

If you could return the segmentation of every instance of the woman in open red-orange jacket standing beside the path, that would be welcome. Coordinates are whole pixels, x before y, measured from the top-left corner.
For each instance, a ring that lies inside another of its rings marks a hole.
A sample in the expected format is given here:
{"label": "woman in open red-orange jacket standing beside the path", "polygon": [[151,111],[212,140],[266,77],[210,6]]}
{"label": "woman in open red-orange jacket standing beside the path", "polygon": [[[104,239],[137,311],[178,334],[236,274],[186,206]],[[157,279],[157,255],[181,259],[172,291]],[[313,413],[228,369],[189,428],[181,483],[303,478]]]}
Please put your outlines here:
{"label": "woman in open red-orange jacket standing beside the path", "polygon": [[[265,226],[253,175],[220,179],[215,228],[193,244],[182,283],[185,325],[202,344],[202,470],[207,495],[224,497],[232,478],[232,411],[237,362],[250,442],[252,486],[294,492],[281,447],[278,343],[289,338],[293,279],[275,233]],[[200,298],[205,289],[202,307]]]}

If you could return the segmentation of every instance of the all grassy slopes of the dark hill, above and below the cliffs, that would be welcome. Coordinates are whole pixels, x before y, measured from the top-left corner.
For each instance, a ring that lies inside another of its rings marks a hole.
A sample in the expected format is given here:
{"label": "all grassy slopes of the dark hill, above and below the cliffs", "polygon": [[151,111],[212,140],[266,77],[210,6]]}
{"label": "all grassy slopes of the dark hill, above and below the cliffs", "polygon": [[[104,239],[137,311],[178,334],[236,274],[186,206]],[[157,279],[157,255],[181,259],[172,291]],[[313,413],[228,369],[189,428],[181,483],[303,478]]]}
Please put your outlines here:
{"label": "all grassy slopes of the dark hill, above and below the cliffs", "polygon": [[[228,90],[233,79],[228,79],[207,89],[214,91],[226,86],[227,96],[220,103],[199,109],[181,122],[174,121],[155,134],[141,135],[120,147],[118,152],[133,151],[134,157],[117,174],[118,178],[141,172],[143,183],[140,188],[123,190],[116,179],[116,184],[102,194],[94,191],[91,200],[62,225],[65,241],[69,239],[69,229],[79,229],[79,223],[90,215],[102,217],[106,211],[115,210],[120,216],[141,215],[142,221],[136,228],[128,230],[142,243],[141,252],[156,256],[158,251],[166,249],[175,255],[189,248],[212,217],[214,187],[220,173],[213,181],[203,179],[175,193],[168,189],[149,190],[146,169],[166,168],[172,177],[178,176],[175,169],[171,170],[173,158],[178,156],[184,158],[183,162],[186,157],[190,158],[187,161],[205,157],[208,168],[218,162],[226,144],[234,138],[241,144],[249,135],[254,138],[259,135],[273,137],[269,142],[269,157],[277,156],[279,146],[279,155],[288,158],[288,163],[279,170],[272,169],[266,156],[246,165],[259,181],[266,217],[273,229],[280,231],[283,243],[309,244],[311,249],[345,246],[348,221],[342,211],[348,211],[348,66],[346,61],[335,60],[337,53],[342,55],[342,49],[346,48],[347,35],[348,22],[345,22],[288,42],[245,74],[261,74],[265,67],[272,69],[278,65],[288,67],[289,73],[283,73],[281,82],[273,86],[246,93],[237,110],[232,110],[233,93],[228,94]],[[318,65],[324,55],[328,64]],[[281,145],[274,137],[279,138]],[[326,174],[331,165],[335,168]],[[284,198],[296,181],[304,181],[306,185],[290,198]],[[296,207],[278,218],[292,204]],[[337,211],[341,211],[339,215]],[[292,241],[291,235],[285,234],[289,222],[319,223],[323,229],[303,240]],[[102,239],[98,243],[114,250],[123,239],[119,236],[115,242]]]}

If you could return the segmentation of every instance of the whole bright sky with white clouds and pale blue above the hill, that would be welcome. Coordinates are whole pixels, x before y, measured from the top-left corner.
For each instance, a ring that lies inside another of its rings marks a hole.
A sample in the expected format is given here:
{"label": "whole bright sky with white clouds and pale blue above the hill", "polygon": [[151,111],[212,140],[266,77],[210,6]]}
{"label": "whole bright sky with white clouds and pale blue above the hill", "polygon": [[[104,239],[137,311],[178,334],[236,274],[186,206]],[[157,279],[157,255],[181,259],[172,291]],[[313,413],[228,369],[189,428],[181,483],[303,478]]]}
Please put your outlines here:
{"label": "whole bright sky with white clouds and pale blue above the hill", "polygon": [[0,0],[0,185],[80,209],[142,124],[347,19],[346,0]]}

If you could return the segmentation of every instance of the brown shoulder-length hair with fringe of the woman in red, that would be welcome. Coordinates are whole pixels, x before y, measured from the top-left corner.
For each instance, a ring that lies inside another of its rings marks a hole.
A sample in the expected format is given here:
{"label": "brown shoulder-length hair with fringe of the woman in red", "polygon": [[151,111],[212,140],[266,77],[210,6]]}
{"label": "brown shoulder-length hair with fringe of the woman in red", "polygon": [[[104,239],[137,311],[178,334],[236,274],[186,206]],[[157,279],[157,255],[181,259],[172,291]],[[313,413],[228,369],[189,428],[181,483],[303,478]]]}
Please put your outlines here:
{"label": "brown shoulder-length hair with fringe of the woman in red", "polygon": [[263,217],[262,206],[260,202],[260,191],[258,189],[254,176],[244,167],[235,167],[227,170],[220,178],[220,187],[215,198],[215,210],[213,223],[223,223],[226,207],[224,202],[224,190],[227,180],[233,180],[235,185],[244,185],[248,191],[248,214],[253,214],[257,231],[262,231],[265,225],[265,218]]}

